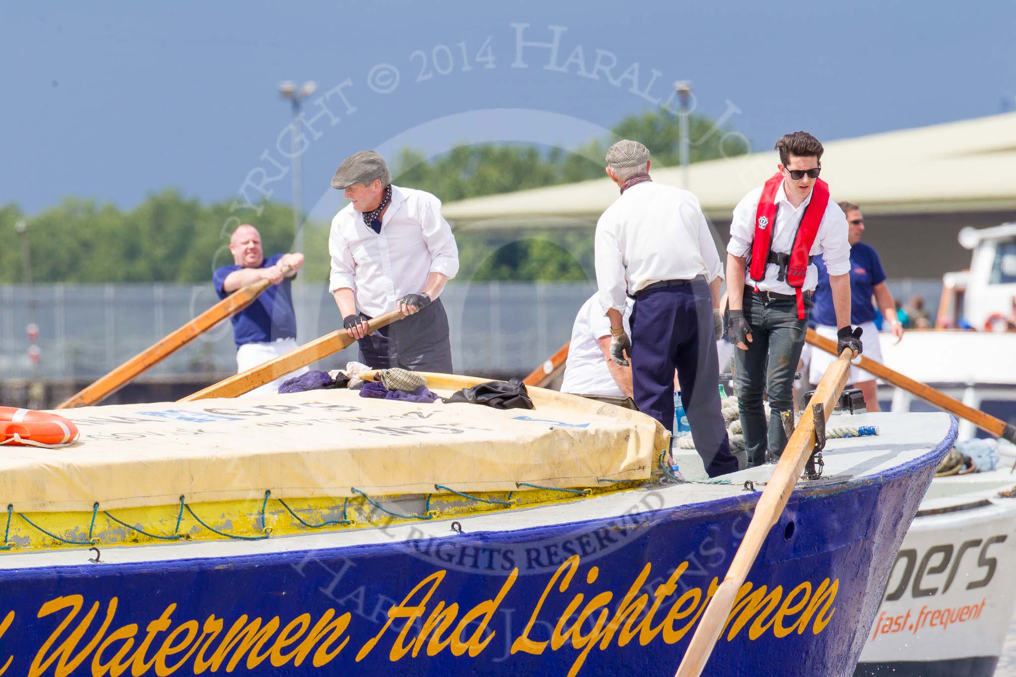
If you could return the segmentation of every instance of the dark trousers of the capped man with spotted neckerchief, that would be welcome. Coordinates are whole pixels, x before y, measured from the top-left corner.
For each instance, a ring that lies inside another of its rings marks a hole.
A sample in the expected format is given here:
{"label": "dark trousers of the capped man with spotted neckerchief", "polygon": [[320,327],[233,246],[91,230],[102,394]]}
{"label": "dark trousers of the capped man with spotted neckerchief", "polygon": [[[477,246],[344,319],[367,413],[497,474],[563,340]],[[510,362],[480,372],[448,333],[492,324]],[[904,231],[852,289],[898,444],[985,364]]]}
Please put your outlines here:
{"label": "dark trousers of the capped man with spotted neckerchief", "polygon": [[419,313],[375,329],[358,343],[360,361],[372,369],[401,366],[414,371],[452,374],[448,315],[440,298]]}

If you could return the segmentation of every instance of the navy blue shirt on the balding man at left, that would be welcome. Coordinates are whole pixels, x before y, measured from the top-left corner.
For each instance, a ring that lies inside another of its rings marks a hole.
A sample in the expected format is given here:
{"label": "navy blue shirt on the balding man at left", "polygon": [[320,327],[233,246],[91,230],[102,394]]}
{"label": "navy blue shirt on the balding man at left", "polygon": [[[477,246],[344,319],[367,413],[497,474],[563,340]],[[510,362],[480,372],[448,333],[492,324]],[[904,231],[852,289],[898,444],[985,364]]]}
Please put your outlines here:
{"label": "navy blue shirt on the balding man at left", "polygon": [[[281,254],[276,254],[262,261],[259,268],[274,266],[281,258]],[[215,270],[211,279],[219,298],[230,295],[230,292],[223,291],[223,283],[229,274],[243,269],[243,266],[231,265]],[[297,316],[293,312],[292,277],[287,277],[278,284],[269,285],[253,303],[233,316],[233,339],[237,347],[245,343],[264,343],[296,337]]]}

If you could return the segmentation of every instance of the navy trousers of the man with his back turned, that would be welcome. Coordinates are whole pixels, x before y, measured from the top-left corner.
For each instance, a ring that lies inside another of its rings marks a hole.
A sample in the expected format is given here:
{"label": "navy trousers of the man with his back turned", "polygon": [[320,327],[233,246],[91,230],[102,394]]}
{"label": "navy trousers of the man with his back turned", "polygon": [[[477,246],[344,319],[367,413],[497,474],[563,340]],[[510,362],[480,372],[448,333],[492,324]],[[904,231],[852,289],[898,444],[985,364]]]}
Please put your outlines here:
{"label": "navy trousers of the man with his back turned", "polygon": [[719,403],[712,299],[704,280],[639,293],[632,309],[632,385],[639,411],[674,428],[674,369],[695,449],[709,477],[736,472],[738,460]]}

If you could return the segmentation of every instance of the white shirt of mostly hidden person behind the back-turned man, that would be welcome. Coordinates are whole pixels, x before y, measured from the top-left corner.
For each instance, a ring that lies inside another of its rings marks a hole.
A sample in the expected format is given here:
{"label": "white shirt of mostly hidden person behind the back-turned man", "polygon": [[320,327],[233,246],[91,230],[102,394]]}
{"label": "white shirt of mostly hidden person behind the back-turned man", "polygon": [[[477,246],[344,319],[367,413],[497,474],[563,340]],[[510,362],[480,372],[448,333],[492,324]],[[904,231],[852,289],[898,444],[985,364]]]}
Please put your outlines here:
{"label": "white shirt of mostly hidden person behind the back-turned man", "polygon": [[[633,301],[630,298],[627,300],[622,321],[630,336],[632,330],[628,318],[631,316]],[[599,339],[610,334],[611,321],[604,315],[597,294],[592,294],[575,316],[572,340],[568,345],[568,360],[565,362],[565,377],[561,382],[562,393],[626,397],[611,376],[604,349],[599,347]]]}

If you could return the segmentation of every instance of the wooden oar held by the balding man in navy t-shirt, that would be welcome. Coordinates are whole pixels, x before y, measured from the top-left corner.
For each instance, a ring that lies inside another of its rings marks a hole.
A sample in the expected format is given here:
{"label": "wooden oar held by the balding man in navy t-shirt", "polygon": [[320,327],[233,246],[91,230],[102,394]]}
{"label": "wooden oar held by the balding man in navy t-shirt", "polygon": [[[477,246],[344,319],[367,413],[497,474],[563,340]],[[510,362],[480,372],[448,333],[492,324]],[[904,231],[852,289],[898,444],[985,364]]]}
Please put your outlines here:
{"label": "wooden oar held by the balding man in navy t-shirt", "polygon": [[[291,270],[289,266],[282,266],[282,275],[287,275]],[[109,397],[137,378],[142,371],[151,368],[223,320],[253,303],[254,299],[270,285],[271,282],[268,280],[258,280],[237,289],[180,329],[168,334],[158,343],[134,355],[90,386],[64,400],[57,405],[57,409],[86,407]]]}

